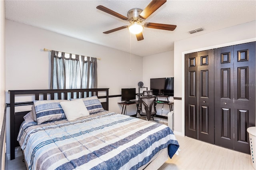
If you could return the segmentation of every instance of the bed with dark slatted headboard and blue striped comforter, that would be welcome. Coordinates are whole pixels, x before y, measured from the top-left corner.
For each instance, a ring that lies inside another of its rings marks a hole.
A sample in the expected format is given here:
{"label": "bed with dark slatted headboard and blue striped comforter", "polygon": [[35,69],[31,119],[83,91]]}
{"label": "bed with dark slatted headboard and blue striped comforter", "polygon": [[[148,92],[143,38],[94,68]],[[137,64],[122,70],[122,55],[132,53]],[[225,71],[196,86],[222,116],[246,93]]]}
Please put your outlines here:
{"label": "bed with dark slatted headboard and blue striped comforter", "polygon": [[[152,168],[178,150],[178,141],[166,125],[108,111],[108,89],[10,91],[11,121],[21,117],[15,112],[19,103],[14,102],[15,95],[21,94],[35,94],[33,102],[22,104],[35,107],[37,122],[33,109],[22,112],[25,121],[13,137],[19,141],[28,169]],[[52,113],[48,107],[54,105],[62,110],[54,115],[57,119],[48,114]],[[87,115],[76,117],[79,108]]]}

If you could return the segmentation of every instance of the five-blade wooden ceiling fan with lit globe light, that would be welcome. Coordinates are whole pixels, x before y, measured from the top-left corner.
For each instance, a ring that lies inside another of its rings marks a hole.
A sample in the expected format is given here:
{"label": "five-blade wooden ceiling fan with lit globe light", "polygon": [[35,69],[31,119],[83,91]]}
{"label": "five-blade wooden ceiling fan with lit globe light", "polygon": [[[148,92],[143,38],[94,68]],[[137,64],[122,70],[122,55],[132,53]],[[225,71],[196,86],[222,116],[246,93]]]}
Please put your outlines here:
{"label": "five-blade wooden ceiling fan with lit globe light", "polygon": [[137,40],[144,40],[142,35],[143,28],[155,28],[160,30],[168,30],[173,31],[176,28],[176,25],[169,25],[169,24],[158,24],[158,23],[152,23],[152,22],[146,22],[144,24],[141,24],[146,18],[148,18],[153,12],[155,12],[160,6],[162,6],[166,0],[152,0],[148,6],[144,10],[139,8],[133,8],[127,12],[127,17],[123,16],[113,10],[110,10],[102,5],[97,6],[96,8],[98,10],[101,10],[103,12],[106,12],[110,15],[116,16],[117,18],[120,18],[122,20],[130,22],[129,26],[121,26],[118,28],[114,28],[112,30],[108,30],[106,32],[103,32],[104,34],[109,34],[112,32],[116,32],[119,30],[122,30],[124,28],[128,28],[131,33],[136,34]]}

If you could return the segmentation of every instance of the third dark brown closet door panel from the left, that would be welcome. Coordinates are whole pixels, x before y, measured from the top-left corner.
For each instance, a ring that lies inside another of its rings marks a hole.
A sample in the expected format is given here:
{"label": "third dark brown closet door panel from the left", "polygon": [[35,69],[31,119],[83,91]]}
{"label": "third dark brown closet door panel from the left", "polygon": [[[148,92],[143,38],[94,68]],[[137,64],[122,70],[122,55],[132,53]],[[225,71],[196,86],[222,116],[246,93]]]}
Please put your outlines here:
{"label": "third dark brown closet door panel from the left", "polygon": [[214,51],[215,144],[234,149],[233,46]]}

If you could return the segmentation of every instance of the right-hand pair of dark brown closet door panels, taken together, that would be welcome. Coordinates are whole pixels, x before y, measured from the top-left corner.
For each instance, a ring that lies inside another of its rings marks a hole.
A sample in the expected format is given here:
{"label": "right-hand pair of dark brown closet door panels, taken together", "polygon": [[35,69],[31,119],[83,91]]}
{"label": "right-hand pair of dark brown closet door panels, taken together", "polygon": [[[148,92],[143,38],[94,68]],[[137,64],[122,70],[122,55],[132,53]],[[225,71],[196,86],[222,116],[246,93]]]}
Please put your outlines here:
{"label": "right-hand pair of dark brown closet door panels, taken together", "polygon": [[215,144],[250,153],[255,126],[255,42],[215,49]]}

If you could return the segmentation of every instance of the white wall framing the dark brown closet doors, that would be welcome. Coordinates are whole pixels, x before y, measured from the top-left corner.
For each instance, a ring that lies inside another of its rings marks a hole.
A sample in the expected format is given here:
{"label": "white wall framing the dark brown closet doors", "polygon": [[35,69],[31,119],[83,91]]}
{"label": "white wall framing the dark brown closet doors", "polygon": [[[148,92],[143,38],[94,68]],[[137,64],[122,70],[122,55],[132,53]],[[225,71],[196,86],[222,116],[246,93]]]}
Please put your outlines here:
{"label": "white wall framing the dark brown closet doors", "polygon": [[[184,135],[184,54],[218,47],[225,47],[246,42],[256,41],[256,21],[232,26],[203,34],[186,40],[174,42],[174,97],[182,97],[182,100],[174,100],[176,133]],[[178,107],[178,105],[180,107]]]}

